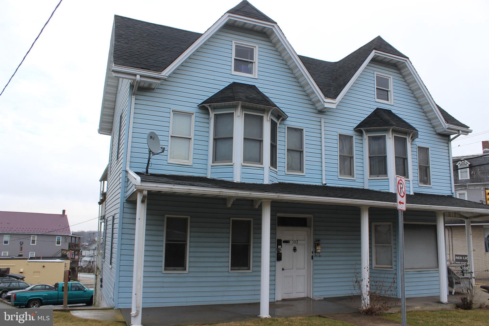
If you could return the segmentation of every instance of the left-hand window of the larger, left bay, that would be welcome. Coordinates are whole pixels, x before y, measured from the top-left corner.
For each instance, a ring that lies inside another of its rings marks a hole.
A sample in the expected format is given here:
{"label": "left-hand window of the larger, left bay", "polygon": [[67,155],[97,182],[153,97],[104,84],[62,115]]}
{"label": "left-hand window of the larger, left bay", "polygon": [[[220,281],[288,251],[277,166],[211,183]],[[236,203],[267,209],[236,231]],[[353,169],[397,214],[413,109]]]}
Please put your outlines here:
{"label": "left-hand window of the larger, left bay", "polygon": [[214,114],[212,163],[233,162],[234,112]]}

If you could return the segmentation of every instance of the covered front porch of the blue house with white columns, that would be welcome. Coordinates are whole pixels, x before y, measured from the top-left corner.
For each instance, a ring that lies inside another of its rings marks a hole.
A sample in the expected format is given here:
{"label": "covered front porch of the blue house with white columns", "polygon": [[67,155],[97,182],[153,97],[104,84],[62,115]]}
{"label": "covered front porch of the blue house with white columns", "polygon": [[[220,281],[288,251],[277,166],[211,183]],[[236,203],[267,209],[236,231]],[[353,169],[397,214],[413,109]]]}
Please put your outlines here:
{"label": "covered front porch of the blue house with white columns", "polygon": [[[288,310],[286,307],[291,301],[284,300],[287,298],[350,297],[356,292],[356,279],[362,284],[361,291],[357,292],[363,293],[368,304],[366,293],[371,277],[393,280],[391,295],[399,295],[399,261],[396,259],[399,228],[394,194],[342,187],[135,175],[140,179],[134,177],[133,192],[128,194],[122,220],[123,226],[128,228],[122,234],[121,264],[125,265],[120,266],[124,273],[119,279],[117,298],[118,307],[129,309],[131,306],[132,325],[142,325],[142,318],[148,314],[146,309],[152,307],[171,306],[161,311],[170,309],[173,315],[176,306],[185,306],[178,309],[191,313],[197,307],[212,310],[209,304],[213,307],[242,304],[250,316],[280,316],[280,311]],[[432,226],[422,230],[426,234],[433,232],[431,239],[435,249],[434,256],[430,257],[435,257],[435,262],[406,271],[406,294],[435,297],[436,301],[446,303],[444,215],[446,211],[453,215],[467,210],[468,214],[476,216],[477,210],[483,210],[437,207],[429,204],[433,196],[447,200],[446,196],[436,195],[421,198],[414,195],[407,199],[404,223]],[[463,203],[448,198],[452,199]],[[164,239],[168,217],[188,218],[187,233],[179,231],[187,237],[182,240],[186,244],[186,261],[180,261],[182,268],[173,270],[165,269],[164,256],[169,255],[165,250],[166,242],[172,242]],[[280,217],[286,218],[281,221]],[[305,224],[298,223],[299,218],[306,218]],[[250,243],[240,243],[249,245],[250,251],[249,266],[242,264],[241,269],[232,268],[231,221],[234,220],[250,220],[252,225]],[[386,225],[388,227],[384,227]],[[374,232],[383,232],[390,239],[381,237],[375,243]],[[289,242],[282,241],[282,248],[279,248],[278,239]],[[321,243],[320,253],[315,250],[316,241]],[[294,249],[294,255],[304,254],[303,263],[287,265],[290,263],[285,251],[287,245]],[[383,260],[378,259],[379,254],[377,259],[373,257],[375,251],[382,252],[377,247],[386,248]],[[277,255],[279,249],[282,249],[282,260]],[[295,274],[286,275],[290,271]],[[288,283],[288,280],[291,281]],[[330,299],[304,300],[302,304],[308,312],[306,315],[316,308],[325,309],[321,313],[330,313],[327,310],[335,306]],[[344,306],[336,308],[347,309],[347,305]],[[284,309],[280,310],[281,307]]]}

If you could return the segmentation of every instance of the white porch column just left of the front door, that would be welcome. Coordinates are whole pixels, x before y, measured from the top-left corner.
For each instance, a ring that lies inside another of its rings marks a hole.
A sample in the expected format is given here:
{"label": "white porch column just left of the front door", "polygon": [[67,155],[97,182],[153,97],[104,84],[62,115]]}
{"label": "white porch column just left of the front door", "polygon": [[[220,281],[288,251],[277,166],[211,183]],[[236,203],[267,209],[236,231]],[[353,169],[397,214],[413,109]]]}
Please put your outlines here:
{"label": "white porch column just left of the front door", "polygon": [[270,318],[270,200],[262,201],[262,279],[260,283],[260,318]]}

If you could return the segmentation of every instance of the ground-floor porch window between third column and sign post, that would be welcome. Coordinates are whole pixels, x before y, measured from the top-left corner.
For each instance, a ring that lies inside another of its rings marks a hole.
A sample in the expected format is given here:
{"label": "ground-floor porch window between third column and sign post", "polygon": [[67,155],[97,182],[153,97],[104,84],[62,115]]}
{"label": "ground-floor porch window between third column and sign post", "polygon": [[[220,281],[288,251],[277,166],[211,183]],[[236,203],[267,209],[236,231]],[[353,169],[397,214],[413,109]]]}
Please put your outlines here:
{"label": "ground-floor porch window between third column and sign post", "polygon": [[392,223],[372,223],[374,268],[392,268]]}

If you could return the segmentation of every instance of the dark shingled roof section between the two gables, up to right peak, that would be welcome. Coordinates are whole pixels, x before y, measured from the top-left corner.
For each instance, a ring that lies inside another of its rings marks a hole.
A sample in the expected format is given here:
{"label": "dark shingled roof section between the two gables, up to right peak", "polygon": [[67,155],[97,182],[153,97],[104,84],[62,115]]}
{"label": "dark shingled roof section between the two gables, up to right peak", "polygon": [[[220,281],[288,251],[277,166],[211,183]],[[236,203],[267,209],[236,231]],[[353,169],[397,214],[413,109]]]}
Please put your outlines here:
{"label": "dark shingled roof section between the two gables, up to right peak", "polygon": [[394,46],[380,36],[361,46],[337,62],[322,61],[305,56],[299,56],[302,63],[311,73],[317,86],[325,97],[336,98],[355,75],[360,66],[367,60],[373,50],[382,51],[407,59]]}

